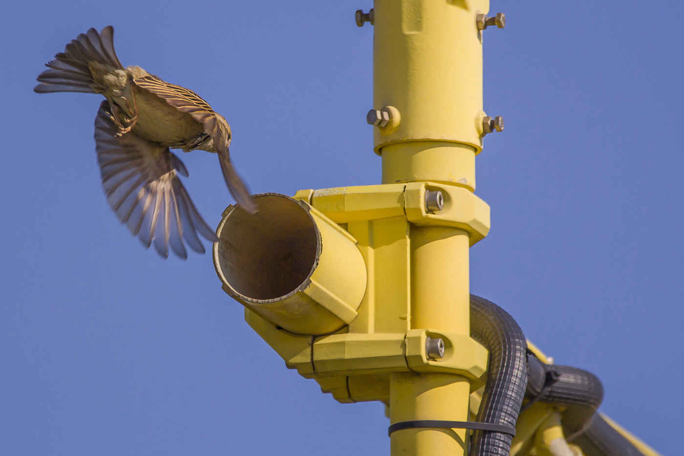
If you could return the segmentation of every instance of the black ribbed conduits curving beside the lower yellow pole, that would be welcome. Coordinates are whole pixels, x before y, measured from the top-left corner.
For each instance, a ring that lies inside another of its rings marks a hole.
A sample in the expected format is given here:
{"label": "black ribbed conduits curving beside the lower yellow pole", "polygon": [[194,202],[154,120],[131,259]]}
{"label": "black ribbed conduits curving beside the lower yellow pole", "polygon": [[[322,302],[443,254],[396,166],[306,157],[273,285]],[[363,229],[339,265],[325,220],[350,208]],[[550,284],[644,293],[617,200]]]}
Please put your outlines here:
{"label": "black ribbed conduits curving beside the lower yellow pole", "polygon": [[[603,401],[603,385],[586,370],[544,364],[527,351],[527,341],[516,321],[495,303],[471,294],[471,338],[489,351],[487,383],[477,412],[478,422],[515,427],[523,397],[566,407],[562,414],[568,442],[585,456],[643,456],[627,438],[611,427],[596,409]],[[470,456],[508,456],[512,436],[473,431]]]}

